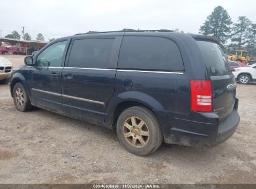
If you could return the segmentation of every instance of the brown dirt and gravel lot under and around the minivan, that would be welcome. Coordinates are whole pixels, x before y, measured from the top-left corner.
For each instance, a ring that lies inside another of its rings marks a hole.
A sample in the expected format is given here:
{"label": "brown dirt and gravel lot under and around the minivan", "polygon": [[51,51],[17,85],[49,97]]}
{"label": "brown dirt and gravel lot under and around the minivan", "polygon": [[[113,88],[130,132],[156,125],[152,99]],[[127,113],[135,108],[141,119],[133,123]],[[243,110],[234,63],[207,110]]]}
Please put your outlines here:
{"label": "brown dirt and gravel lot under and around the minivan", "polygon": [[256,85],[238,85],[237,96],[240,125],[224,144],[162,145],[138,157],[115,131],[43,109],[17,111],[0,85],[0,183],[256,183]]}

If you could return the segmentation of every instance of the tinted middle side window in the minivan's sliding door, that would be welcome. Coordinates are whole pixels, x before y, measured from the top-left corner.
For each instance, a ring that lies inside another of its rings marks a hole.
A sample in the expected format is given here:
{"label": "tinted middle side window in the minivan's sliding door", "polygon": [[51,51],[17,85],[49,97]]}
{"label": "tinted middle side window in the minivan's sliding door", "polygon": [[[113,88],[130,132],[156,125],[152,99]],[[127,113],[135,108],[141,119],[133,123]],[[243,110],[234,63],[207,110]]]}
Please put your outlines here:
{"label": "tinted middle side window in the minivan's sliding door", "polygon": [[76,39],[68,67],[108,68],[114,39]]}

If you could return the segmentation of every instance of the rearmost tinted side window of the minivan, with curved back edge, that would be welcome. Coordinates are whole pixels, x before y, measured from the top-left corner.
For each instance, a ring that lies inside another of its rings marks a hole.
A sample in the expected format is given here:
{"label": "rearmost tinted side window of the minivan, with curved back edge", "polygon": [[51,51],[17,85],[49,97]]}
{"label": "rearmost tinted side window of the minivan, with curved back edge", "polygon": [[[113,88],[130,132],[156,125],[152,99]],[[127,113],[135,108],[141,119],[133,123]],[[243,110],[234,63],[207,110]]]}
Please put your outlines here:
{"label": "rearmost tinted side window of the minivan, with curved back edge", "polygon": [[118,68],[138,70],[184,70],[178,46],[163,37],[126,36],[121,44]]}

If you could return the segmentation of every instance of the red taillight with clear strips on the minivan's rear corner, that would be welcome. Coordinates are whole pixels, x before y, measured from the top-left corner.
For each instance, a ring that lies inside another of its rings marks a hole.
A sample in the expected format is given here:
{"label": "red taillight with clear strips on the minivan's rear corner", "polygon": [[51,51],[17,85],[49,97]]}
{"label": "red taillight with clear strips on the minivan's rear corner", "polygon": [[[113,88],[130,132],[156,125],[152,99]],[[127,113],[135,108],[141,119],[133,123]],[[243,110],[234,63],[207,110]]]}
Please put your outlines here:
{"label": "red taillight with clear strips on the minivan's rear corner", "polygon": [[211,80],[191,80],[191,110],[212,111],[212,83]]}

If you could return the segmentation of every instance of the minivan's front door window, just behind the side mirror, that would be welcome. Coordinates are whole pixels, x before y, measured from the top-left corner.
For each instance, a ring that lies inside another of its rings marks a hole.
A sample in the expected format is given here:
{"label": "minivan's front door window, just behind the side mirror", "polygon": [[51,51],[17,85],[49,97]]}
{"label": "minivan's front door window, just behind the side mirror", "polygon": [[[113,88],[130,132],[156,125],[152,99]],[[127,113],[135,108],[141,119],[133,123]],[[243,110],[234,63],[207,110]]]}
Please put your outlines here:
{"label": "minivan's front door window, just behind the side mirror", "polygon": [[37,57],[37,67],[61,67],[67,41],[57,42],[40,53]]}

